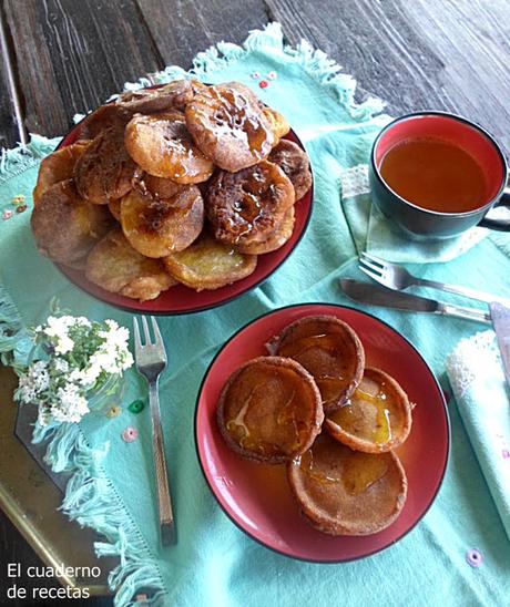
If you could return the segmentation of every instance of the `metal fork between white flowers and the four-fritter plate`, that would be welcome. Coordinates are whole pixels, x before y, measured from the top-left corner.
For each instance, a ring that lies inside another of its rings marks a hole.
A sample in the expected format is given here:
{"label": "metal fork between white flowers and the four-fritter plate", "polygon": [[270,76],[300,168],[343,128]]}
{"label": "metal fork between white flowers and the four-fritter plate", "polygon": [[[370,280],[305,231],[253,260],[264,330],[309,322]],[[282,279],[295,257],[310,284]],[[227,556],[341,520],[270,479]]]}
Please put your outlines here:
{"label": "metal fork between white flowers and the four-fritter plate", "polygon": [[152,442],[154,447],[154,466],[156,473],[157,501],[160,510],[160,537],[163,546],[175,543],[175,524],[170,497],[169,476],[164,452],[163,432],[161,429],[159,381],[166,367],[166,352],[155,318],[151,316],[155,341],[151,341],[146,318],[142,316],[145,343],[142,344],[136,318],[134,325],[134,358],[136,369],[147,380],[149,402],[152,418]]}

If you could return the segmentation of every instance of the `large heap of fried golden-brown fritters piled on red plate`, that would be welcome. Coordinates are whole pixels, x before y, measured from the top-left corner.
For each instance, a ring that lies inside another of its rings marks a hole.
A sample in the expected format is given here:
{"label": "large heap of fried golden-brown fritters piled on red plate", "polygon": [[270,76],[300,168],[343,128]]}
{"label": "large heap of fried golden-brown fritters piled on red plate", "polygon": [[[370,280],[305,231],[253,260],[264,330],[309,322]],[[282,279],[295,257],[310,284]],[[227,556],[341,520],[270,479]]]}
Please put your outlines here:
{"label": "large heap of fried golden-brown fritters piled on red plate", "polygon": [[217,289],[283,246],[312,185],[284,116],[241,83],[180,80],[124,93],[41,163],[39,250],[140,300]]}

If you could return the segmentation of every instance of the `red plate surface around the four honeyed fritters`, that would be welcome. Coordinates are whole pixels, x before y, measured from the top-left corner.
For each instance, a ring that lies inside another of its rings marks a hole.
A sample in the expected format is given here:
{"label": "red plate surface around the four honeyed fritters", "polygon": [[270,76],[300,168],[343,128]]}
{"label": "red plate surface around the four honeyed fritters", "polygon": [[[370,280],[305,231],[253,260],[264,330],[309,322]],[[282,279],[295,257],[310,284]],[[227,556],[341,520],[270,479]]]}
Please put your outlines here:
{"label": "red plate surface around the four honeyed fritters", "polygon": [[[216,428],[216,402],[230,374],[243,362],[265,354],[264,343],[284,327],[309,315],[332,315],[348,322],[365,347],[367,364],[387,371],[411,402],[412,430],[397,453],[409,488],[399,518],[374,535],[329,536],[299,515],[283,465],[245,461],[231,451]],[[329,304],[280,308],[251,322],[225,343],[213,360],[198,393],[195,440],[205,479],[224,512],[251,537],[278,553],[317,563],[363,558],[394,544],[425,515],[442,482],[449,451],[449,420],[442,391],[418,351],[377,318]]]}

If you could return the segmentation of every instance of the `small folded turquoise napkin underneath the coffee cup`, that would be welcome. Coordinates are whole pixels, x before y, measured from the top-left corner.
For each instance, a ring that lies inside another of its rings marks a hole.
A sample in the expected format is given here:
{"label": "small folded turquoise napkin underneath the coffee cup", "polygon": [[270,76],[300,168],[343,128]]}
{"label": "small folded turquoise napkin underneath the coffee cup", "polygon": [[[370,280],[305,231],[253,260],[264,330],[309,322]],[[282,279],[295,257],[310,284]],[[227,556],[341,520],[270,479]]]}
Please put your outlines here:
{"label": "small folded turquoise napkin underneath the coffee cup", "polygon": [[[387,123],[390,119],[381,116],[381,120]],[[374,138],[376,135],[374,133]],[[368,162],[369,153],[370,147],[366,147],[365,157],[360,154],[364,163]],[[367,251],[397,264],[450,261],[488,235],[486,228],[475,227],[458,237],[436,243],[410,240],[373,203],[367,164],[347,168],[341,173],[340,182],[341,207],[358,255]]]}

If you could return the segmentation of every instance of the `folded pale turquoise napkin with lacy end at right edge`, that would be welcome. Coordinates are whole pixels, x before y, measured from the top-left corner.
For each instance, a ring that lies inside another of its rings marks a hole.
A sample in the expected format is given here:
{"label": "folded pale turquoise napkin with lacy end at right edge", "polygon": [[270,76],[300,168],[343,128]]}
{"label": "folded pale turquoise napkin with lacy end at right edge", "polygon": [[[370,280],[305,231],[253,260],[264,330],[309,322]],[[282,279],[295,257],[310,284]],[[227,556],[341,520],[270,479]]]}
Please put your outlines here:
{"label": "folded pale turquoise napkin with lacy end at right edge", "polygon": [[510,400],[496,333],[462,339],[448,357],[447,372],[510,539]]}

